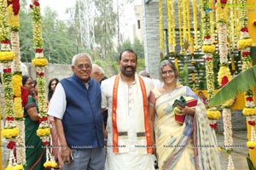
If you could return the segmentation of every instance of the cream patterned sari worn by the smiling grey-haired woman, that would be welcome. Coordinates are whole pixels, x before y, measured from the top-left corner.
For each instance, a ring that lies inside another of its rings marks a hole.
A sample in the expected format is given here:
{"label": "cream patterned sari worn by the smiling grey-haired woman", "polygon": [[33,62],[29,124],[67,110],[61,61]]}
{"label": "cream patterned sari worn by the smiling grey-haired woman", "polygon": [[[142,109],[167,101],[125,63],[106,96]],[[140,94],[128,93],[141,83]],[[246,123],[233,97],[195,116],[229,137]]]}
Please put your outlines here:
{"label": "cream patterned sari worn by the smiling grey-haired woman", "polygon": [[160,169],[221,169],[218,147],[207,119],[205,106],[198,100],[195,116],[187,115],[183,125],[174,118],[172,104],[181,95],[198,99],[194,92],[179,86],[166,94],[152,91],[150,105],[156,111],[155,145]]}

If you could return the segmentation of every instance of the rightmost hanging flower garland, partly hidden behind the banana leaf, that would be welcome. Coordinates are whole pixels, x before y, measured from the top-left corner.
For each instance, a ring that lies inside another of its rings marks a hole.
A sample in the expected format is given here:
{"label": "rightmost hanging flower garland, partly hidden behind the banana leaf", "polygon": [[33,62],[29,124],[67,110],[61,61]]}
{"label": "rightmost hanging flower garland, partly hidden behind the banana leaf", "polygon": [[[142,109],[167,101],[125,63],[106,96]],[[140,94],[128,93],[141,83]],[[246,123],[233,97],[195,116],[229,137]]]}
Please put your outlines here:
{"label": "rightmost hanging flower garland, partly hidden behind the banana leaf", "polygon": [[[241,70],[246,71],[252,66],[252,59],[250,56],[251,47],[253,45],[253,40],[249,36],[247,28],[247,0],[239,0],[240,9],[239,9],[239,20],[240,20],[240,39],[237,42],[237,48],[241,50]],[[256,121],[256,111],[255,104],[253,101],[253,89],[248,89],[245,92],[246,104],[243,108],[243,115],[247,117],[247,124],[251,126],[251,138],[248,139],[247,147],[249,149],[254,149],[256,146],[256,134],[254,132],[255,121]]]}

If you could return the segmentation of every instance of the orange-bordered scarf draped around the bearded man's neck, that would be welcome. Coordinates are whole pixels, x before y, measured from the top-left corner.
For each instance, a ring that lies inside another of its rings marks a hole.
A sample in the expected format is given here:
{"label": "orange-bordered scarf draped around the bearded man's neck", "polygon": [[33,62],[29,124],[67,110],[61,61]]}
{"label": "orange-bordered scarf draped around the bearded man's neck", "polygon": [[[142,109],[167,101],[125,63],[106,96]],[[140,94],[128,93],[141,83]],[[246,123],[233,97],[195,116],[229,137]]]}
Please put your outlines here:
{"label": "orange-bordered scarf draped around the bearded man's neck", "polygon": [[[119,153],[119,132],[117,127],[117,101],[118,101],[118,86],[119,86],[119,74],[115,77],[113,84],[113,103],[112,103],[112,126],[113,126],[113,153]],[[152,141],[150,136],[150,127],[148,122],[148,99],[146,93],[146,87],[143,82],[143,78],[138,76],[140,82],[141,91],[143,94],[143,112],[144,112],[144,127],[147,140],[147,153],[152,153]]]}

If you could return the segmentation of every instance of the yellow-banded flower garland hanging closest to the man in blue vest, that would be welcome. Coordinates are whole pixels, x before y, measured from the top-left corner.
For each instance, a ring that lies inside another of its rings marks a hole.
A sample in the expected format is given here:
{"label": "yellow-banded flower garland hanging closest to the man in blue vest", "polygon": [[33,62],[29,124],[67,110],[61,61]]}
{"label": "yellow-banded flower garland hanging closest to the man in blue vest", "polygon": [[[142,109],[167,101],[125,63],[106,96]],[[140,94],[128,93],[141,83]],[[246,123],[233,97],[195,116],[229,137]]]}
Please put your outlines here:
{"label": "yellow-banded flower garland hanging closest to the man in blue vest", "polygon": [[46,149],[46,162],[44,167],[54,168],[56,167],[55,161],[49,154],[49,138],[50,138],[50,128],[47,122],[47,103],[46,103],[46,92],[45,92],[45,78],[44,78],[44,67],[48,65],[48,60],[44,58],[43,54],[43,37],[42,37],[42,24],[41,24],[41,11],[40,4],[38,0],[32,0],[30,5],[32,9],[32,23],[33,23],[33,42],[36,48],[35,59],[32,59],[32,65],[36,67],[37,70],[37,82],[38,82],[38,110],[39,110],[39,127],[37,130],[37,135],[42,139],[42,144]]}

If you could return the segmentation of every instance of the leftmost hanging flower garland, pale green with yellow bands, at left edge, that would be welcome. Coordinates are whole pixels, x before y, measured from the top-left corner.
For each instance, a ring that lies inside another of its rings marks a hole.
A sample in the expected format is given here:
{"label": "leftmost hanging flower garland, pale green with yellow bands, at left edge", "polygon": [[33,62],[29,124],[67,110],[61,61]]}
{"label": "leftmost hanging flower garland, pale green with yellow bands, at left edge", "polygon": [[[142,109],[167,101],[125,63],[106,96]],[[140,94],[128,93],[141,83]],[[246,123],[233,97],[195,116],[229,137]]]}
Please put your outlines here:
{"label": "leftmost hanging flower garland, pale green with yellow bands, at left edge", "polygon": [[[4,108],[5,108],[5,127],[2,129],[2,136],[8,141],[7,148],[10,151],[9,164],[6,169],[14,169],[20,167],[17,165],[14,156],[15,140],[19,134],[19,128],[15,122],[14,112],[14,91],[12,83],[12,69],[11,62],[15,59],[15,53],[11,51],[9,40],[9,22],[7,12],[7,1],[0,0],[0,62],[3,65],[3,94],[4,94]],[[22,166],[21,166],[22,167]],[[23,168],[23,167],[22,167]]]}

